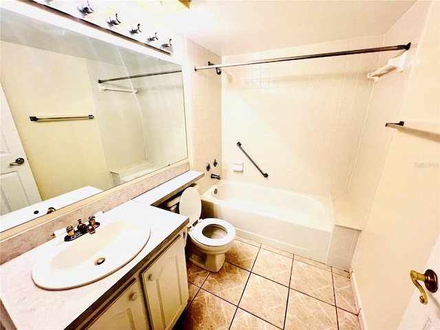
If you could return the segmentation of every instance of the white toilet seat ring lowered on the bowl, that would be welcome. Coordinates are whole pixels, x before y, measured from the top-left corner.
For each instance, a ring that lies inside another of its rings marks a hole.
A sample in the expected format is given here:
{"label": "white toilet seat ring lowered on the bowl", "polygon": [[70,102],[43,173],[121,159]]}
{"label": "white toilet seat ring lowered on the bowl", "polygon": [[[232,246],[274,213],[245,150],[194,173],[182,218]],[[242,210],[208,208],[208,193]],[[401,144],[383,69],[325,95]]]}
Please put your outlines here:
{"label": "white toilet seat ring lowered on the bowl", "polygon": [[[223,228],[226,232],[226,235],[221,237],[221,239],[210,239],[203,234],[203,230],[209,225]],[[228,221],[217,218],[206,218],[202,221],[199,221],[199,223],[197,223],[197,225],[195,225],[192,230],[188,232],[188,234],[192,239],[199,242],[200,244],[215,247],[230,243],[235,237],[235,228],[233,225],[228,223]]]}

